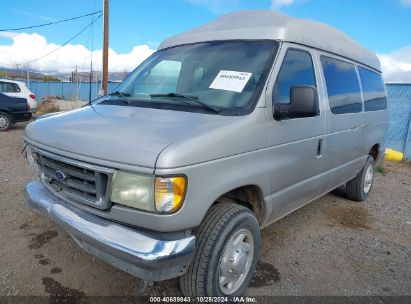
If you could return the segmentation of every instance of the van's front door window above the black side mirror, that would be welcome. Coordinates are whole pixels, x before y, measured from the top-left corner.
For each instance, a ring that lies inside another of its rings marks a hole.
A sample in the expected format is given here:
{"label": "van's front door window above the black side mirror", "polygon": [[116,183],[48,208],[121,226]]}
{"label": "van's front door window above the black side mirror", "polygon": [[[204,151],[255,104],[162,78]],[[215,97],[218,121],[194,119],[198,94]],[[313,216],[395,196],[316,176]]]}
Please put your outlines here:
{"label": "van's front door window above the black side mirror", "polygon": [[290,103],[290,88],[299,85],[316,87],[313,62],[308,52],[289,49],[275,82],[274,103]]}

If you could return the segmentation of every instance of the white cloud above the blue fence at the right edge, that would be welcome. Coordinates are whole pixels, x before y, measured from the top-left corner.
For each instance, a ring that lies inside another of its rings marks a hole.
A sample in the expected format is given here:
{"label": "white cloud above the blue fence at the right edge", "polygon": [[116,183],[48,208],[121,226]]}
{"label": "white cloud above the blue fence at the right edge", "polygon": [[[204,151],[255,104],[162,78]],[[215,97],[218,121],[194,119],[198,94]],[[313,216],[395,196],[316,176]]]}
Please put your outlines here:
{"label": "white cloud above the blue fence at the right edge", "polygon": [[411,45],[390,54],[377,54],[386,82],[411,83]]}

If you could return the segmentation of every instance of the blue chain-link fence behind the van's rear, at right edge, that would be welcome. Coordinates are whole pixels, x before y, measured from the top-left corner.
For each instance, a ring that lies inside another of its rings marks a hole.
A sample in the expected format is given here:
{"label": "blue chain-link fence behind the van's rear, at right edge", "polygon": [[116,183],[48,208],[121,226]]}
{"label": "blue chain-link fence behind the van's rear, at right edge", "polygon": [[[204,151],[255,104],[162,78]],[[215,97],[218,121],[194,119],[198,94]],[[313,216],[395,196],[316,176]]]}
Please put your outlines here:
{"label": "blue chain-link fence behind the van's rear, at right edge", "polygon": [[386,146],[411,160],[411,84],[387,84],[389,124]]}

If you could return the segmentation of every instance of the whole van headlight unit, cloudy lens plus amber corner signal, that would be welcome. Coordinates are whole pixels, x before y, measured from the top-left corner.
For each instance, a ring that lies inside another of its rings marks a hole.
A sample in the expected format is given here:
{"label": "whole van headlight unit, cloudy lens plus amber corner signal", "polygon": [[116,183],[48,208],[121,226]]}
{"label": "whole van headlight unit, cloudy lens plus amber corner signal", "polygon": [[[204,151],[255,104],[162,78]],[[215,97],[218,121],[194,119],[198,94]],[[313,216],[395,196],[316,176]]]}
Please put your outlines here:
{"label": "whole van headlight unit, cloudy lens plus amber corner signal", "polygon": [[187,180],[183,176],[154,177],[116,171],[111,201],[146,211],[172,213],[181,208],[186,186]]}

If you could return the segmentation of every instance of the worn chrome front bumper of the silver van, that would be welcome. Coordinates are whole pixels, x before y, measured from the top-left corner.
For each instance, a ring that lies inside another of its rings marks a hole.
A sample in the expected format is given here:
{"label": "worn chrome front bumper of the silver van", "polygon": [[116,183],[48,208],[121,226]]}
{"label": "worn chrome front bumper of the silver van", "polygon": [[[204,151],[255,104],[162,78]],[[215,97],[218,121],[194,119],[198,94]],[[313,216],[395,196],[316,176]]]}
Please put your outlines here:
{"label": "worn chrome front bumper of the silver van", "polygon": [[159,240],[70,206],[40,181],[29,183],[25,195],[31,210],[63,226],[81,248],[136,277],[161,281],[181,276],[193,256],[194,236]]}

